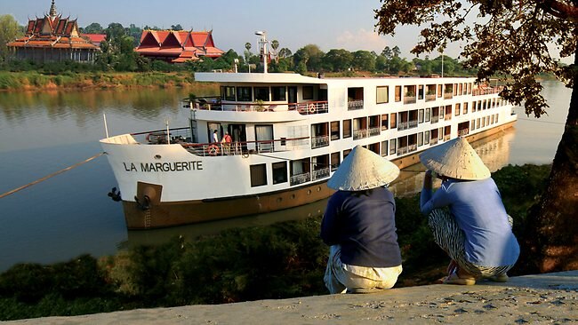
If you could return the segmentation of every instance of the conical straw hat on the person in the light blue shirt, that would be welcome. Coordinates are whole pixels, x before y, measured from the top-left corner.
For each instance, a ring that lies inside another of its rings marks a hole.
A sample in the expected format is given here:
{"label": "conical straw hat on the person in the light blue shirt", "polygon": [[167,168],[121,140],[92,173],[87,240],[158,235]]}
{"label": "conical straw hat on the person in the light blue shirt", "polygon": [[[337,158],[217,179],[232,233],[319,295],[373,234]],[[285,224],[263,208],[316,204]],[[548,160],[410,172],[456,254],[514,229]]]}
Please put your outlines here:
{"label": "conical straw hat on the person in the light blue shirt", "polygon": [[478,180],[490,177],[482,159],[465,138],[456,138],[420,155],[426,168],[448,178]]}

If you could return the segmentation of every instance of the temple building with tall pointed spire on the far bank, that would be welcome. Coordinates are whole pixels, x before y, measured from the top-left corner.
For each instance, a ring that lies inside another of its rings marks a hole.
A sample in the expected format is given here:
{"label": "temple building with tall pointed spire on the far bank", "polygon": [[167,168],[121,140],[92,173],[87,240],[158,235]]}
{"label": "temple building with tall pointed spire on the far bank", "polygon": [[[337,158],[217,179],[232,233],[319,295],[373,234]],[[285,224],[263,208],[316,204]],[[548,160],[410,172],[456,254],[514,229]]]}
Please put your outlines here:
{"label": "temple building with tall pointed spire on the far bank", "polygon": [[26,35],[6,44],[16,59],[36,62],[73,60],[93,62],[99,46],[78,33],[76,20],[63,18],[52,0],[50,12],[43,18],[28,20]]}

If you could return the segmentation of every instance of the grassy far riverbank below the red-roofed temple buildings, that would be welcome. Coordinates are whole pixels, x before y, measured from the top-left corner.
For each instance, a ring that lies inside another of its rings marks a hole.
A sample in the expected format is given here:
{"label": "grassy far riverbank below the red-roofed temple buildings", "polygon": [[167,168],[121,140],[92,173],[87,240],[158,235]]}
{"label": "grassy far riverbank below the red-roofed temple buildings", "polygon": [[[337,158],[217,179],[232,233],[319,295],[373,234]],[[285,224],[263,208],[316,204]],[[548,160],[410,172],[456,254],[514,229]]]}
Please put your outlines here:
{"label": "grassy far riverbank below the red-roofed temple buildings", "polygon": [[[44,91],[59,89],[108,89],[131,87],[189,87],[195,83],[189,72],[102,73],[62,72],[58,75],[36,71],[0,71],[0,91]],[[207,83],[205,83],[207,86]],[[214,87],[214,86],[213,86]]]}

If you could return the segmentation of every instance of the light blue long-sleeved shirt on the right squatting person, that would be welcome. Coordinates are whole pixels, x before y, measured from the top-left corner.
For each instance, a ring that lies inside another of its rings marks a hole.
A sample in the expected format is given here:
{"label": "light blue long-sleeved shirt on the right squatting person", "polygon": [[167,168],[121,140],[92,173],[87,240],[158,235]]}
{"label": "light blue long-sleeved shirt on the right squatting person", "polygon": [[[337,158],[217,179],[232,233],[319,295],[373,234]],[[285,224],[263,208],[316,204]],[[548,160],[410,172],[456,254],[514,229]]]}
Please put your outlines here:
{"label": "light blue long-sleeved shirt on the right squatting person", "polygon": [[465,253],[477,266],[510,266],[516,263],[519,246],[494,179],[450,178],[432,195],[421,191],[421,212],[448,206],[466,237]]}

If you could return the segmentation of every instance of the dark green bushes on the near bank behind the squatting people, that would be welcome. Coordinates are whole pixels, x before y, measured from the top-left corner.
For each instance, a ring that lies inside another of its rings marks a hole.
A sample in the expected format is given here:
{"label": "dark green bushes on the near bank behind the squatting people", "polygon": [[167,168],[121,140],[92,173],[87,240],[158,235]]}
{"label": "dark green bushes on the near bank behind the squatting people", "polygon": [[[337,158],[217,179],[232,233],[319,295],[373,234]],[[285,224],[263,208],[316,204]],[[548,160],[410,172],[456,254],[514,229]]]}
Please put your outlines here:
{"label": "dark green bushes on the near bank behind the squatting people", "polygon": [[[539,202],[550,168],[508,165],[492,175],[518,242],[526,240],[527,211]],[[404,266],[396,287],[435,283],[448,259],[433,242],[419,194],[396,198],[396,204]],[[0,321],[325,295],[327,247],[318,235],[320,222],[317,217],[229,229],[116,256],[12,266],[0,274]],[[522,273],[514,266],[510,275]]]}

